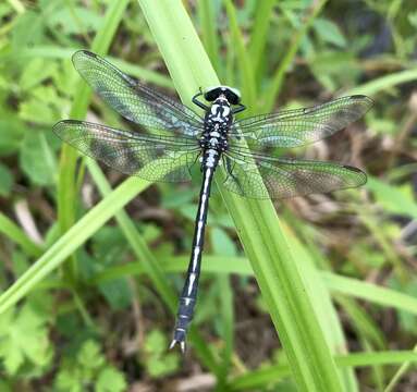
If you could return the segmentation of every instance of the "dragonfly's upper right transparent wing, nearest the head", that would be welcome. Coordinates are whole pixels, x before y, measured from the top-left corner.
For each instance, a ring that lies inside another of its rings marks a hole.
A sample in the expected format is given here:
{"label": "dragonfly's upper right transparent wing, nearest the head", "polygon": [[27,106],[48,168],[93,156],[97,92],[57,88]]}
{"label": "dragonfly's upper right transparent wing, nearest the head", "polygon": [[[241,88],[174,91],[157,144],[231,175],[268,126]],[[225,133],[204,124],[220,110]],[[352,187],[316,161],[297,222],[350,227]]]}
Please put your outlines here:
{"label": "dragonfly's upper right transparent wing, nearest the head", "polygon": [[[253,150],[298,147],[328,137],[363,117],[373,101],[361,95],[343,97],[311,108],[284,110],[236,121],[231,148],[243,136]],[[241,133],[238,132],[241,131]]]}

